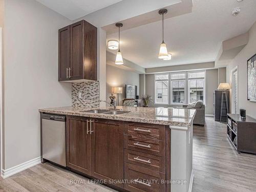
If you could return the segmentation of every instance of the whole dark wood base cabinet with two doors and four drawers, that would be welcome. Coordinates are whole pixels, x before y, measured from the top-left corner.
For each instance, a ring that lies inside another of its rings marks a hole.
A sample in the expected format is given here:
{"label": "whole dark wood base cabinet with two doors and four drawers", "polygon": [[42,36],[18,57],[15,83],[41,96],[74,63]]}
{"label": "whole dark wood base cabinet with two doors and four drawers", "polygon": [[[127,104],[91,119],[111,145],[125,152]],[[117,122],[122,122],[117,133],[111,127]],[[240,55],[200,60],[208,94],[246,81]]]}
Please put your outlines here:
{"label": "whole dark wood base cabinet with two doors and four drawers", "polygon": [[67,166],[120,191],[170,191],[162,183],[170,179],[166,130],[155,124],[67,116]]}

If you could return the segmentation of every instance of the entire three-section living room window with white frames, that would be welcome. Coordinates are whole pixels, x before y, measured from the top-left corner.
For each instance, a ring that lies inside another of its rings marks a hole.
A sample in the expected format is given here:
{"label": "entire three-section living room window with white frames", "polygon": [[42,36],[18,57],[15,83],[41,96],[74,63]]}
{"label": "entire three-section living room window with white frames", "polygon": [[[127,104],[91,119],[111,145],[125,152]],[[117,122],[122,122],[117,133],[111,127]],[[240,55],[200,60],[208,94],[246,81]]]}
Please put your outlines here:
{"label": "entire three-section living room window with white frames", "polygon": [[205,71],[155,74],[156,104],[181,105],[198,100],[205,103]]}

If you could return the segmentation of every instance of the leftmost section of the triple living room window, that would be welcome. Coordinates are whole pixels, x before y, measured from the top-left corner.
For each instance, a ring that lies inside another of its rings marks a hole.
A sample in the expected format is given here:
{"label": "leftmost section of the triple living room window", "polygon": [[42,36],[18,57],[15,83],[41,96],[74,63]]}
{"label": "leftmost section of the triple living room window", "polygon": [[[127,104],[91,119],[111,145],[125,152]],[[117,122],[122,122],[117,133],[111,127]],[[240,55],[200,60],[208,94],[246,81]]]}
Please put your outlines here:
{"label": "leftmost section of the triple living room window", "polygon": [[169,74],[156,74],[155,75],[155,103],[168,104],[168,92],[169,92]]}

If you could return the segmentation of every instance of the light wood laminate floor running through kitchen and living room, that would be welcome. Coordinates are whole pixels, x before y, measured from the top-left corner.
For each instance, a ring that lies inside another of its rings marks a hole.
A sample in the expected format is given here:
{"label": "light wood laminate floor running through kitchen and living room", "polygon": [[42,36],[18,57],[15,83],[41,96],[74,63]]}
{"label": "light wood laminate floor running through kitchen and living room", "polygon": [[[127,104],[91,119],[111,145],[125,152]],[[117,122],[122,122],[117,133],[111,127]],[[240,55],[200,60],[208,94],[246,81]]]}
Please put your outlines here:
{"label": "light wood laminate floor running through kitchen and living room", "polygon": [[[193,192],[255,192],[256,155],[238,154],[226,137],[226,124],[206,118],[194,126]],[[73,184],[70,180],[82,183]],[[0,191],[115,191],[50,163],[38,164],[0,180]],[[178,192],[178,191],[173,191]]]}

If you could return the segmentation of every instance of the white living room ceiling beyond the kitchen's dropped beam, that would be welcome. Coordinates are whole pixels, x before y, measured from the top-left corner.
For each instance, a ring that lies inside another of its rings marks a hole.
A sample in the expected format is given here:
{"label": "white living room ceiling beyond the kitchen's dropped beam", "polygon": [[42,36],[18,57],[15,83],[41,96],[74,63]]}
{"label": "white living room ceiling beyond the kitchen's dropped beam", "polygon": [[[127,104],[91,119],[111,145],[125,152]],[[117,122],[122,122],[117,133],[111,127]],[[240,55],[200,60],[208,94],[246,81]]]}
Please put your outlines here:
{"label": "white living room ceiling beyond the kitchen's dropped beam", "polygon": [[[173,54],[171,61],[158,59],[161,21],[121,31],[123,57],[144,68],[215,61],[221,42],[247,32],[256,20],[255,0],[193,2],[191,13],[164,20],[164,41]],[[241,13],[234,17],[231,11],[237,7]],[[117,33],[109,34],[106,40],[117,37]]]}

